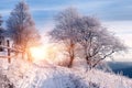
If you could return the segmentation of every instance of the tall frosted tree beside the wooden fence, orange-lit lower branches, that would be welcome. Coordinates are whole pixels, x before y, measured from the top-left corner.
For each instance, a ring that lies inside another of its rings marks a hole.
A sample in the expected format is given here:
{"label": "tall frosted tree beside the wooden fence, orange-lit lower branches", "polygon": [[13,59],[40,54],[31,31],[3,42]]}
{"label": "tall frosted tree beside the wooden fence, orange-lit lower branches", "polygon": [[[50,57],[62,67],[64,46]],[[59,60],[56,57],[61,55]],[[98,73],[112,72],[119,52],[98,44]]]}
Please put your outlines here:
{"label": "tall frosted tree beside the wooden fence, orange-lit lower branches", "polygon": [[28,52],[29,46],[38,42],[38,32],[30,14],[29,6],[24,1],[20,1],[15,6],[7,21],[7,28],[13,40],[14,47],[21,50],[23,54]]}

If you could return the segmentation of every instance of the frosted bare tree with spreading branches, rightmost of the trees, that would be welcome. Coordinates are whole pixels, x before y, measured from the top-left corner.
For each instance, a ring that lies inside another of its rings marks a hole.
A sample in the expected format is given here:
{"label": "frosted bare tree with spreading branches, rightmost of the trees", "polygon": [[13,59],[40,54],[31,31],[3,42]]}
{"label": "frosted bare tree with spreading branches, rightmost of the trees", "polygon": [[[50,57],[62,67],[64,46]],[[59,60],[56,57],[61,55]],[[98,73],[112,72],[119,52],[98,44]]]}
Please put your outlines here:
{"label": "frosted bare tree with spreading branches, rightmost of the trees", "polygon": [[111,32],[102,28],[96,18],[82,16],[76,21],[76,25],[78,25],[78,43],[82,46],[90,68],[113,53],[125,50],[125,46]]}

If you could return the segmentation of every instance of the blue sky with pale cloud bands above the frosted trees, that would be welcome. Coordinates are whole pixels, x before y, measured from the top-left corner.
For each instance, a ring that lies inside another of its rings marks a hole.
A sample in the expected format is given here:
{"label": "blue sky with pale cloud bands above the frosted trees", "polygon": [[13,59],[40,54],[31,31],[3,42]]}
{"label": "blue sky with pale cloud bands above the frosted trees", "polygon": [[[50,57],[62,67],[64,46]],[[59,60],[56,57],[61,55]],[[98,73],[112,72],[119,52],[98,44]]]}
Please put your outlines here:
{"label": "blue sky with pale cloud bands above the frosted trees", "polygon": [[[6,21],[20,0],[0,0],[0,14]],[[63,9],[75,7],[81,14],[99,18],[122,42],[132,47],[132,0],[25,0],[40,31],[54,26],[54,16]],[[127,55],[125,58],[132,58]]]}

